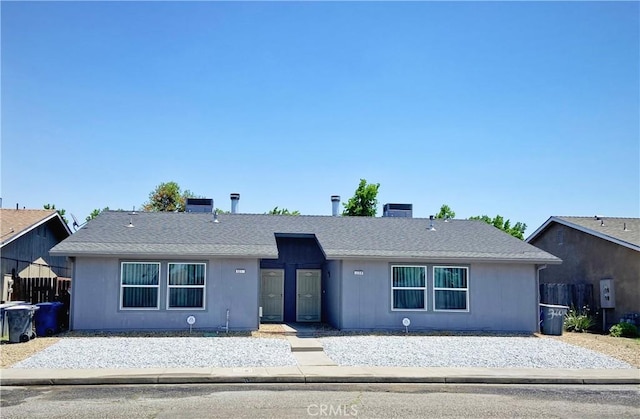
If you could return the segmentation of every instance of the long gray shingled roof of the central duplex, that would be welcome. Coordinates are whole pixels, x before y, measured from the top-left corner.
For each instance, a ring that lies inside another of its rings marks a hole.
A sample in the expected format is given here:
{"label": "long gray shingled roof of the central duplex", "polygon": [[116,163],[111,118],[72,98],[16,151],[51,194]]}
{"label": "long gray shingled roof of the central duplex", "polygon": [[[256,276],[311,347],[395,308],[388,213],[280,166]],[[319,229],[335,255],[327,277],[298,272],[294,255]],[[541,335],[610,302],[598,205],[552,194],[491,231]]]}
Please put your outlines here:
{"label": "long gray shingled roof of the central duplex", "polygon": [[484,222],[393,217],[107,211],[52,255],[277,258],[276,235],[313,236],[327,259],[437,259],[560,263]]}

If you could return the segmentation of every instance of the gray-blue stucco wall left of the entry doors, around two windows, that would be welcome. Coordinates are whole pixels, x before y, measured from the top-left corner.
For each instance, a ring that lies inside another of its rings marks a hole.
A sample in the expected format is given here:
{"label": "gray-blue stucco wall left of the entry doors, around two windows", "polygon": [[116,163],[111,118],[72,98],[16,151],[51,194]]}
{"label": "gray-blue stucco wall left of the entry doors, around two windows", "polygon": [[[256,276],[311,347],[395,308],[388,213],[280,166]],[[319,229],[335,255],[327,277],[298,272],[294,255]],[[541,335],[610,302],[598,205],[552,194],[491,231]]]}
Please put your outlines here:
{"label": "gray-blue stucco wall left of the entry doors, around two windows", "polygon": [[[227,309],[230,330],[258,328],[259,268],[255,259],[190,260],[207,265],[204,310],[166,310],[167,262],[184,262],[174,259],[150,260],[161,262],[159,310],[120,310],[122,261],[132,259],[76,259],[71,294],[73,330],[187,330],[190,315],[196,318],[194,329],[221,330]],[[245,273],[236,273],[237,268]]]}

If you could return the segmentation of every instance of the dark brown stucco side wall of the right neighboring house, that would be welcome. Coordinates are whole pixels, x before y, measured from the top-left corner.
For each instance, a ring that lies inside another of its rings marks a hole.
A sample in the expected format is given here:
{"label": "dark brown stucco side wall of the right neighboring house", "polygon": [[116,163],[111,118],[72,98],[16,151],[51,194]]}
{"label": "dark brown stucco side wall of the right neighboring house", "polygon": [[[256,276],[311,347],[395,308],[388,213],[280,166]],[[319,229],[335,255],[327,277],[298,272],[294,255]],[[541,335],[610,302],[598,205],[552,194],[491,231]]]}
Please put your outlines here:
{"label": "dark brown stucco side wall of the right neighboring house", "polygon": [[640,312],[640,252],[557,223],[531,244],[562,259],[541,272],[541,283],[592,284],[598,308],[600,280],[613,279],[616,307],[607,310],[607,329],[625,314]]}

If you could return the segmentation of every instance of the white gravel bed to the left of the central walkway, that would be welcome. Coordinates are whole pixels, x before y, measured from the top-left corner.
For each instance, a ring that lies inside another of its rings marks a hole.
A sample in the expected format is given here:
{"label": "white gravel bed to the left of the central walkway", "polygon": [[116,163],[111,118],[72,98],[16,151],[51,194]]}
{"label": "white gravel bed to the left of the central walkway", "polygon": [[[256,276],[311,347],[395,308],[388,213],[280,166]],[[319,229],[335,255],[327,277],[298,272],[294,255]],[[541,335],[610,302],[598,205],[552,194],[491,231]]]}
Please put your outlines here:
{"label": "white gravel bed to the left of the central walkway", "polygon": [[205,368],[297,365],[287,341],[249,337],[66,338],[12,368]]}

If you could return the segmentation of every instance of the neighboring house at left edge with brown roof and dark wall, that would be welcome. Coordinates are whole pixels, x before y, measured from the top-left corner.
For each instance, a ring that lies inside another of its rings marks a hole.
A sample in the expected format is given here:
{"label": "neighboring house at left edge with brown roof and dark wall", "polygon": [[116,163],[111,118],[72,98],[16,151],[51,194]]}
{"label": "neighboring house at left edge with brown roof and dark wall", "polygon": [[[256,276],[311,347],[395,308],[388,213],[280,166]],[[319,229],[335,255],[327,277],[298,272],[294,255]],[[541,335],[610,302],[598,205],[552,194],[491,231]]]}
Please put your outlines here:
{"label": "neighboring house at left edge with brown roof and dark wall", "polygon": [[[37,274],[41,266],[39,278],[48,278],[51,271],[57,277],[70,277],[67,258],[49,254],[53,246],[71,235],[69,226],[57,211],[2,208],[0,234],[3,299],[7,294],[6,285],[18,278],[20,272]],[[38,259],[45,264],[37,263]]]}

